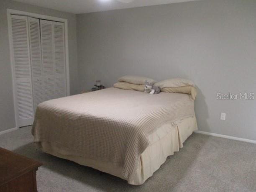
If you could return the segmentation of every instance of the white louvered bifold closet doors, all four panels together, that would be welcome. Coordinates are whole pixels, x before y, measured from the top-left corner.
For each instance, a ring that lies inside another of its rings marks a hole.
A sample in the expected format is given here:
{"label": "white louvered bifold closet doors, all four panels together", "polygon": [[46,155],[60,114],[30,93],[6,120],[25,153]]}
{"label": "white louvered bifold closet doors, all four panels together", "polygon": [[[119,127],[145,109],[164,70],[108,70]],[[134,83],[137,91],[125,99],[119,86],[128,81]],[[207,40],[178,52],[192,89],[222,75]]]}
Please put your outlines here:
{"label": "white louvered bifold closet doors, all four panels together", "polygon": [[67,95],[64,23],[11,15],[18,126],[33,123],[39,103]]}

